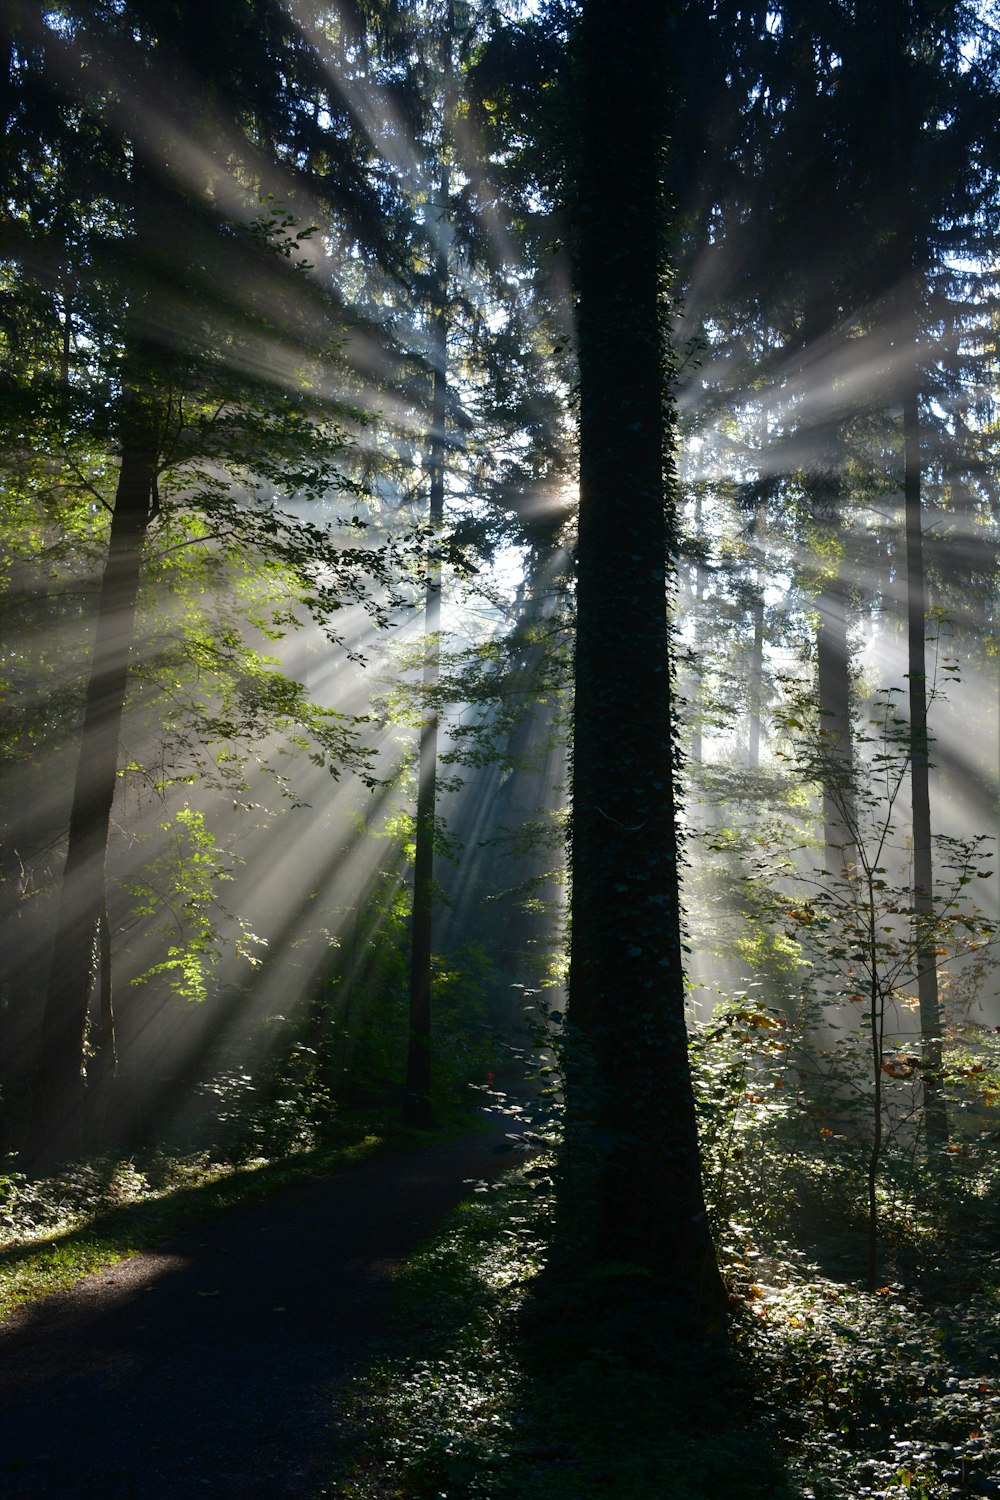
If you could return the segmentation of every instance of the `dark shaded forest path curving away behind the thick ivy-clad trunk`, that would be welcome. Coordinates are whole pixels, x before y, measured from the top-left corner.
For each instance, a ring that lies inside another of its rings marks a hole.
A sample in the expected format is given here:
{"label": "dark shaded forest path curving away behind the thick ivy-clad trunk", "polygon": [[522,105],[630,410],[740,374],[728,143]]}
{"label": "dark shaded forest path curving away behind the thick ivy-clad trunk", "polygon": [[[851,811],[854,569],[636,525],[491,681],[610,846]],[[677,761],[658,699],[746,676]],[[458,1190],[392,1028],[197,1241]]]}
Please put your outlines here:
{"label": "dark shaded forest path curving away behind the thick ivy-clad trunk", "polygon": [[391,1272],[511,1166],[490,1124],[231,1209],[0,1329],[0,1497],[336,1494],[337,1395],[384,1344]]}

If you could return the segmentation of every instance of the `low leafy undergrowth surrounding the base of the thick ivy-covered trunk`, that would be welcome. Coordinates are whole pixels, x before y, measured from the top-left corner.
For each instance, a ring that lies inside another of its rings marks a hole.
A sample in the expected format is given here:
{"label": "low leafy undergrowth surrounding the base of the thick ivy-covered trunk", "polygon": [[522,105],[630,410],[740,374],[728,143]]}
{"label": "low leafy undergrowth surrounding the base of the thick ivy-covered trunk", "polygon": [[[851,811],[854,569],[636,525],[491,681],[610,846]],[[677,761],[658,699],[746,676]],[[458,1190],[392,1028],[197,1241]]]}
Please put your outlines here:
{"label": "low leafy undergrowth surrounding the base of the thick ivy-covered trunk", "polygon": [[[540,1276],[550,1182],[544,1162],[522,1168],[481,1190],[403,1270],[399,1353],[355,1392],[352,1442],[361,1452],[336,1492],[1000,1496],[1000,1276],[976,1233],[963,1257],[955,1230],[969,1226],[951,1208],[951,1230],[943,1209],[925,1227],[907,1286],[892,1281],[874,1293],[742,1226],[730,1239],[732,1358],[706,1348],[678,1368],[664,1348],[658,1362],[631,1360],[603,1350],[595,1326],[589,1347],[577,1328],[582,1356],[567,1360]],[[841,1226],[828,1226],[837,1239]]]}

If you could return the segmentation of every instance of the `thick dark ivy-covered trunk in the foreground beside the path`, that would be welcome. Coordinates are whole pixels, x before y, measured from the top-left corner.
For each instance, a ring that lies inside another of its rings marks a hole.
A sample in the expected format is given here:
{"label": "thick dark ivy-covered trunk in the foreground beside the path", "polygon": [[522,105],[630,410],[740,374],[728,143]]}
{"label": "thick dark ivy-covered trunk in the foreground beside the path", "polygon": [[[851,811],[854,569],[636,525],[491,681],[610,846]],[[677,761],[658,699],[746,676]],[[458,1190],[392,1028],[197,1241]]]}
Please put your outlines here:
{"label": "thick dark ivy-covered trunk in the foreground beside the path", "polygon": [[[580,526],[567,1107],[585,1262],[705,1328],[721,1282],[688,1071],[673,794],[663,292],[670,6],[588,0],[579,42]],[[610,206],[613,212],[610,210]],[[573,1164],[573,1162],[571,1162]]]}

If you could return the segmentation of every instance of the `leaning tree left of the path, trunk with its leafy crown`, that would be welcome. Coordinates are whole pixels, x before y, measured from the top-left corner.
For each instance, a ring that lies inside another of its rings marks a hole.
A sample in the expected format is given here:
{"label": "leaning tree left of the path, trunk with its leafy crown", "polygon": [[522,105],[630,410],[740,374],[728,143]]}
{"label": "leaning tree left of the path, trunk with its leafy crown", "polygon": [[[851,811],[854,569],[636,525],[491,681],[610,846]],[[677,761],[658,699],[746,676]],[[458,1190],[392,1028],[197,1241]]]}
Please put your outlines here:
{"label": "leaning tree left of the path, trunk with its leafy crown", "polygon": [[[81,219],[73,196],[63,198],[60,208],[76,238],[85,242],[79,252],[82,274],[93,280],[96,264],[109,280],[111,272],[117,272],[123,286],[111,309],[97,308],[96,297],[91,298],[94,309],[82,326],[91,350],[105,357],[109,351],[108,364],[99,364],[96,374],[91,369],[88,380],[90,386],[106,381],[103,400],[94,405],[102,416],[103,408],[112,412],[109,438],[118,476],[27,1148],[36,1164],[70,1154],[79,1138],[81,1065],[118,777],[118,738],[139,582],[157,518],[196,510],[202,532],[207,526],[223,550],[238,555],[249,548],[250,554],[270,550],[283,558],[318,620],[328,620],[345,597],[361,597],[364,588],[355,590],[355,584],[363,573],[385,578],[375,549],[334,548],[325,525],[301,522],[274,502],[276,486],[301,498],[330,494],[339,486],[337,465],[345,452],[343,429],[330,422],[333,406],[312,393],[309,378],[300,390],[288,393],[267,376],[252,374],[255,363],[256,368],[265,363],[261,354],[280,328],[283,336],[298,339],[300,374],[306,376],[304,363],[328,344],[334,310],[331,298],[310,292],[298,274],[306,270],[301,240],[309,231],[291,234],[294,220],[280,214],[264,216],[256,225],[241,224],[241,214],[252,216],[256,195],[217,148],[232,148],[240,141],[240,128],[253,110],[258,138],[273,138],[280,129],[274,54],[252,51],[253,36],[240,30],[241,46],[235,50],[231,72],[211,74],[211,87],[207,84],[199,94],[189,140],[177,110],[184,68],[196,72],[204,63],[198,50],[184,56],[184,38],[171,34],[169,16],[150,15],[139,3],[124,20],[103,15],[100,8],[93,15],[87,6],[79,12],[49,18],[51,24],[33,22],[33,39],[54,122],[51,158],[66,166],[73,182],[72,123],[78,116],[103,148],[105,222]],[[75,70],[67,66],[70,33],[82,58]],[[249,58],[244,46],[250,46]],[[139,106],[141,87],[133,74],[148,76],[151,92],[169,100],[162,114],[150,116]],[[123,84],[126,134],[108,102],[109,78],[132,80]],[[268,78],[270,96],[264,87]],[[244,98],[244,84],[250,99]],[[264,118],[268,108],[273,129]],[[229,134],[222,129],[223,122]],[[211,126],[222,136],[214,147],[207,144]],[[177,174],[177,160],[190,144],[204,153],[207,180],[192,183]],[[259,165],[256,147],[246,138],[243,158],[247,174]],[[52,176],[58,177],[58,171]],[[24,177],[19,186],[30,192],[30,171]],[[226,201],[223,212],[216,204],[217,195]],[[363,218],[360,208],[358,216]],[[58,248],[66,250],[66,244]],[[15,240],[15,249],[22,268],[30,272],[37,244]],[[246,286],[252,290],[234,297],[223,268],[237,284],[235,272],[246,272]],[[67,321],[69,312],[64,316]],[[70,386],[66,374],[63,386]],[[379,614],[381,606],[373,608]],[[105,982],[106,954],[105,942],[100,964]]]}

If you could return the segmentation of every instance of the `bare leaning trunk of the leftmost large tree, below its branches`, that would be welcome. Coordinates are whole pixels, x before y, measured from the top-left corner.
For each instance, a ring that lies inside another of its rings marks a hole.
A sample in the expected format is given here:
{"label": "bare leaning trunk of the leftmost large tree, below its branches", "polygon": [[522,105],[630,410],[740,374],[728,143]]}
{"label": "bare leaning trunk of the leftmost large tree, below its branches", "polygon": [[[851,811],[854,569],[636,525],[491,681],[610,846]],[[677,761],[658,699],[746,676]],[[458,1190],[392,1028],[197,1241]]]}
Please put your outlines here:
{"label": "bare leaning trunk of the leftmost large tree, below its branches", "polygon": [[121,468],[100,584],[97,632],[87,682],[69,844],[25,1146],[25,1156],[33,1168],[72,1156],[81,1146],[87,1011],[105,890],[105,858],[142,542],[153,507],[157,456],[157,432],[147,400],[127,394],[124,402]]}

